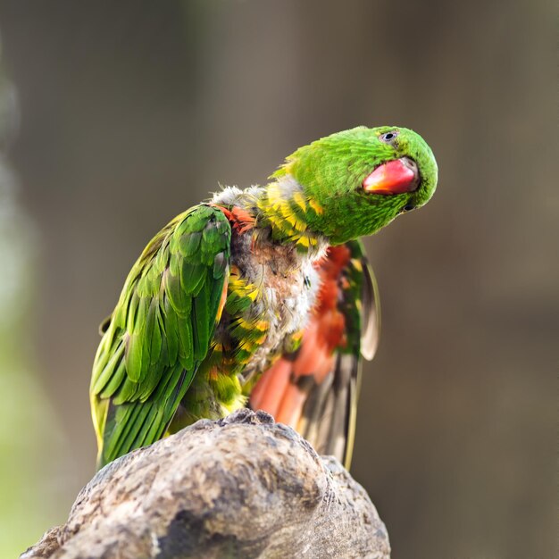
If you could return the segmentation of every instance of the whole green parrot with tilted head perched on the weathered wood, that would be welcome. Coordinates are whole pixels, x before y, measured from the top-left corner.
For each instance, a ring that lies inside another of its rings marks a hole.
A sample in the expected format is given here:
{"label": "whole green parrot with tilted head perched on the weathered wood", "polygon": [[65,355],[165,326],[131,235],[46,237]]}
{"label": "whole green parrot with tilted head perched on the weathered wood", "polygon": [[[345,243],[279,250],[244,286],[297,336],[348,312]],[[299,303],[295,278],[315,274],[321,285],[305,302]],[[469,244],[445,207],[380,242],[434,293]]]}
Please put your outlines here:
{"label": "whole green parrot with tilted head perched on the weathered wood", "polygon": [[93,365],[97,468],[242,407],[349,467],[380,331],[361,238],[426,204],[438,166],[413,130],[359,126],[299,147],[269,180],[221,187],[133,265]]}

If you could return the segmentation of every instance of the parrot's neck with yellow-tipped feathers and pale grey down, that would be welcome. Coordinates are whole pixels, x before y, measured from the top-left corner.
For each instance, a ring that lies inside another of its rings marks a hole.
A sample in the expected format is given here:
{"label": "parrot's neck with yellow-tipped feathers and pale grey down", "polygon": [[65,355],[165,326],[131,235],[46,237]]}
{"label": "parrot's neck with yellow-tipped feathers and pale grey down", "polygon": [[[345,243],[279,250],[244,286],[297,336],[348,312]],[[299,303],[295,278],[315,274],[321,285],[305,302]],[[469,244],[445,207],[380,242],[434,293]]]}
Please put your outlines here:
{"label": "parrot's neck with yellow-tipped feathers and pale grey down", "polygon": [[319,204],[305,196],[303,187],[291,175],[285,175],[263,187],[246,190],[225,188],[213,197],[214,204],[237,207],[254,217],[257,240],[292,245],[312,260],[321,258],[328,239],[308,227],[310,214],[322,212]]}

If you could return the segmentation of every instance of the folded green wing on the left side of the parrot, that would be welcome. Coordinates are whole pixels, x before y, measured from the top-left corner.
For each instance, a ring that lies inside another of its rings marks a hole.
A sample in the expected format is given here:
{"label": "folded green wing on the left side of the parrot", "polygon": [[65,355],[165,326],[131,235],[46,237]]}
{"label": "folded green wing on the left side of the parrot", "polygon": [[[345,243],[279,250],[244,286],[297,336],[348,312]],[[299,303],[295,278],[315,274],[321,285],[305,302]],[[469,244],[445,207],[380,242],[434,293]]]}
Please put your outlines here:
{"label": "folded green wing on the left side of the parrot", "polygon": [[98,467],[163,437],[213,351],[230,237],[221,210],[197,205],[161,230],[134,264],[93,366]]}

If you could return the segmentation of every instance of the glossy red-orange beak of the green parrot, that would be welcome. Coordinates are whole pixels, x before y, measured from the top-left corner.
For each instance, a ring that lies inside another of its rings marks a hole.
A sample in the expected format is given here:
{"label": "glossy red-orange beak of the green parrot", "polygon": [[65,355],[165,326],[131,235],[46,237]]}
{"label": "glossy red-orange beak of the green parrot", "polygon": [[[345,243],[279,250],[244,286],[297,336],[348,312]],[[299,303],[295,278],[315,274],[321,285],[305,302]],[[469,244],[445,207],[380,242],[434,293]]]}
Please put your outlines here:
{"label": "glossy red-orange beak of the green parrot", "polygon": [[403,194],[419,187],[417,164],[409,157],[383,163],[363,180],[363,189],[371,194]]}

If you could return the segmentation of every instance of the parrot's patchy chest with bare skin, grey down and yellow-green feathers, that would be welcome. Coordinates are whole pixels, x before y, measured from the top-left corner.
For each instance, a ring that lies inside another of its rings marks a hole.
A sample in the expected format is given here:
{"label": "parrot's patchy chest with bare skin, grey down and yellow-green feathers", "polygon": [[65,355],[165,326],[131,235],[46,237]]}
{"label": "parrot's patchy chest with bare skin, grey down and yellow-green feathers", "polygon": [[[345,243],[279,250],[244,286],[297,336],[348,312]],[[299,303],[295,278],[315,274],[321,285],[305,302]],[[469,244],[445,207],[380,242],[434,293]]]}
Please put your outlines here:
{"label": "parrot's patchy chest with bare skin, grey down and yellow-green feathers", "polygon": [[222,338],[224,363],[243,377],[262,372],[305,329],[319,276],[308,256],[234,236]]}

